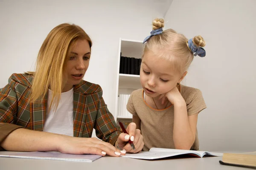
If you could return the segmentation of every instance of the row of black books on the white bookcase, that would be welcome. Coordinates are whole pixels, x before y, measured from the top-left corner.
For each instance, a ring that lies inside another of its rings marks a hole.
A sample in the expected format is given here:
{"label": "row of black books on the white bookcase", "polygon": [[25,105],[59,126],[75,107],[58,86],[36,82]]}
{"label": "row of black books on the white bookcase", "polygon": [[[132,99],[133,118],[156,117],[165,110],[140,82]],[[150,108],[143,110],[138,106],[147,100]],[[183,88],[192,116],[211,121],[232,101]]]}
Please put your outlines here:
{"label": "row of black books on the white bookcase", "polygon": [[120,58],[120,74],[134,74],[140,75],[141,59],[134,57],[122,57]]}

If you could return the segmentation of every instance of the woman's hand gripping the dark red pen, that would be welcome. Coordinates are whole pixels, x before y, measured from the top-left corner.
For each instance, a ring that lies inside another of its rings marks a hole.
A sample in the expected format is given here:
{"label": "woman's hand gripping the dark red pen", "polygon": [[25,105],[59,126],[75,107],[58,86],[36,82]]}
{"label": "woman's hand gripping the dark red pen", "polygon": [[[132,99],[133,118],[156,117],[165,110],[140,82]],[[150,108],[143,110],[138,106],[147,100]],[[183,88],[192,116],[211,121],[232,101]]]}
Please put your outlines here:
{"label": "woman's hand gripping the dark red pen", "polygon": [[[116,141],[116,145],[118,145],[119,149],[122,151],[126,151],[129,153],[137,153],[140,152],[144,146],[143,136],[140,134],[140,130],[136,129],[135,123],[130,123],[126,128],[126,131],[129,133],[121,133]],[[134,150],[131,145],[128,143],[128,140],[134,143]]]}

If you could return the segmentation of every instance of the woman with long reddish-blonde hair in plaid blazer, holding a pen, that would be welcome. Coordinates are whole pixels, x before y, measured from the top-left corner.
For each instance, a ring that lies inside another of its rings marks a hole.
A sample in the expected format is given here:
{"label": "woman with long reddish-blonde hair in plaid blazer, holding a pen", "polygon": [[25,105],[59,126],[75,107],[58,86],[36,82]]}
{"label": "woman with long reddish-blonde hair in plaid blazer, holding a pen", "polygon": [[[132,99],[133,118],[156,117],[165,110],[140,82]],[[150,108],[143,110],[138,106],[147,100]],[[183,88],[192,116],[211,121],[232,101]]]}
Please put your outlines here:
{"label": "woman with long reddish-blonde hair in plaid blazer, holding a pen", "polygon": [[[129,134],[120,133],[102,88],[83,80],[91,47],[82,28],[61,24],[44,40],[35,72],[12,74],[0,90],[0,150],[102,156],[142,150],[136,125],[128,125]],[[93,128],[102,141],[90,138]]]}

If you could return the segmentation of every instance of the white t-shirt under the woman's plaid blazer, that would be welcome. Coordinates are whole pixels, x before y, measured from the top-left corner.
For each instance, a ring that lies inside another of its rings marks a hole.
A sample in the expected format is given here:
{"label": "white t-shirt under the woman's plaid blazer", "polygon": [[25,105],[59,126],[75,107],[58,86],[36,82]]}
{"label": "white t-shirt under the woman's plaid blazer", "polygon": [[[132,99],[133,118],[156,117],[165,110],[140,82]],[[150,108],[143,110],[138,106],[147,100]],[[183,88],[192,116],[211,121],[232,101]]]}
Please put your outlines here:
{"label": "white t-shirt under the woman's plaid blazer", "polygon": [[47,101],[47,117],[44,123],[44,132],[58,133],[68,136],[74,136],[73,133],[73,92],[74,88],[70,91],[61,93],[61,99],[58,104],[56,112],[54,107],[49,111],[52,91],[48,89]]}

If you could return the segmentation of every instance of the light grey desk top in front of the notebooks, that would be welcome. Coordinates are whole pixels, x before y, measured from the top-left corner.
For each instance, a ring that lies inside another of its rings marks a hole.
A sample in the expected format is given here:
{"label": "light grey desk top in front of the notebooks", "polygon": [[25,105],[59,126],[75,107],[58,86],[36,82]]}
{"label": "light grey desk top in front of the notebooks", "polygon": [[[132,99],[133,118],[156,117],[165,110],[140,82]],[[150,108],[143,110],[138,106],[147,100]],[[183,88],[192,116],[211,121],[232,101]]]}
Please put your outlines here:
{"label": "light grey desk top in front of the notebooks", "polygon": [[221,165],[222,157],[140,160],[105,156],[93,162],[0,158],[0,170],[248,170]]}

